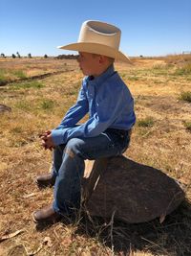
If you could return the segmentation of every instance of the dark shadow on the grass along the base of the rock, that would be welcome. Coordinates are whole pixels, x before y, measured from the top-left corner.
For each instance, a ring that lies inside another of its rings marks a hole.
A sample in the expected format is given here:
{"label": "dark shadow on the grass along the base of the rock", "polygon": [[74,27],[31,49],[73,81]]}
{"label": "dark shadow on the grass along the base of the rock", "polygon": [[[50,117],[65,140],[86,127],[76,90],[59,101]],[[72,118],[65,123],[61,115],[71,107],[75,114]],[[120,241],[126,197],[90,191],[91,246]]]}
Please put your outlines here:
{"label": "dark shadow on the grass along the base of the rock", "polygon": [[76,231],[96,237],[116,254],[129,255],[137,250],[154,255],[191,255],[191,204],[184,200],[165,221],[159,219],[138,224],[108,221],[84,216]]}

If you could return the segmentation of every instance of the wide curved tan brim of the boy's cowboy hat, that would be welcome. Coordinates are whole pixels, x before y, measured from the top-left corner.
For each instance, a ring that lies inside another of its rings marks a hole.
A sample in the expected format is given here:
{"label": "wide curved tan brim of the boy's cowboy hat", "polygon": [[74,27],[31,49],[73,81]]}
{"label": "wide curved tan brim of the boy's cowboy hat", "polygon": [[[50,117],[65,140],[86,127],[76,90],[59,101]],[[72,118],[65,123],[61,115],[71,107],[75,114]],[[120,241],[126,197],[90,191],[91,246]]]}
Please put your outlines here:
{"label": "wide curved tan brim of the boy's cowboy hat", "polygon": [[116,49],[110,46],[99,44],[99,43],[78,42],[78,43],[71,43],[63,46],[57,46],[57,48],[63,49],[63,50],[103,55],[103,56],[107,56],[110,58],[115,58],[117,60],[131,63],[131,60],[122,52],[117,51]]}

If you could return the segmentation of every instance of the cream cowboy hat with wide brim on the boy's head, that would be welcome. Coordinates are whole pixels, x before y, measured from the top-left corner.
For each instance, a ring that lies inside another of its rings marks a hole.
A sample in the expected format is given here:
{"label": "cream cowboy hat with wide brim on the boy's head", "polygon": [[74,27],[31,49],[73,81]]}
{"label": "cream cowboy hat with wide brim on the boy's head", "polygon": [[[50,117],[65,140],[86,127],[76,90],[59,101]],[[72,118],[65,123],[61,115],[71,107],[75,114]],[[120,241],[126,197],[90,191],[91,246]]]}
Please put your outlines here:
{"label": "cream cowboy hat with wide brim on the boy's head", "polygon": [[118,50],[120,34],[116,26],[96,20],[87,20],[81,26],[76,43],[57,48],[98,54],[130,62],[130,59]]}

